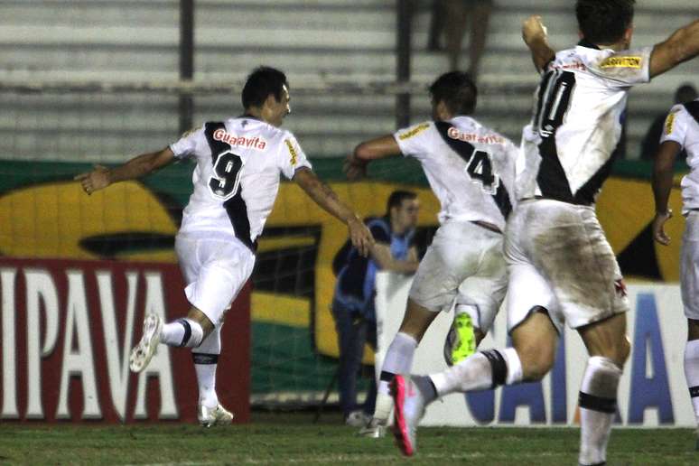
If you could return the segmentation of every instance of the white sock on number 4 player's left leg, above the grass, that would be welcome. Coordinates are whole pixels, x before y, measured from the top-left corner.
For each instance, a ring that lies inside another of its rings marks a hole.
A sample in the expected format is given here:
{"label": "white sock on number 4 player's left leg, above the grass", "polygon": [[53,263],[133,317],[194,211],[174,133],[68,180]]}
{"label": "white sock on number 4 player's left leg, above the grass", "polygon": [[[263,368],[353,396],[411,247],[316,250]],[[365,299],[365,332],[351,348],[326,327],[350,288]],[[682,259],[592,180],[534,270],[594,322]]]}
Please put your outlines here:
{"label": "white sock on number 4 player's left leg, above the grass", "polygon": [[396,338],[388,347],[384,365],[381,367],[381,377],[377,386],[377,404],[374,409],[374,418],[386,421],[393,408],[393,398],[388,390],[388,384],[396,374],[406,374],[413,367],[413,356],[417,348],[417,341],[411,335],[399,331]]}

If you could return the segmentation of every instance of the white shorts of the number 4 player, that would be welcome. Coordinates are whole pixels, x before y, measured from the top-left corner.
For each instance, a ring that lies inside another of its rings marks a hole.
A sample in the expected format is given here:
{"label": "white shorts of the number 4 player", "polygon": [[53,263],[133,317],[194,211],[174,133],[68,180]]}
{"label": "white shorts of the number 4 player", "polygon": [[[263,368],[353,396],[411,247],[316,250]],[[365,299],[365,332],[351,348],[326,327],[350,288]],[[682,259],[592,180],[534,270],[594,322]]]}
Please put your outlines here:
{"label": "white shorts of the number 4 player", "polygon": [[420,261],[409,296],[432,312],[449,311],[456,300],[485,332],[507,286],[502,235],[469,221],[447,221]]}

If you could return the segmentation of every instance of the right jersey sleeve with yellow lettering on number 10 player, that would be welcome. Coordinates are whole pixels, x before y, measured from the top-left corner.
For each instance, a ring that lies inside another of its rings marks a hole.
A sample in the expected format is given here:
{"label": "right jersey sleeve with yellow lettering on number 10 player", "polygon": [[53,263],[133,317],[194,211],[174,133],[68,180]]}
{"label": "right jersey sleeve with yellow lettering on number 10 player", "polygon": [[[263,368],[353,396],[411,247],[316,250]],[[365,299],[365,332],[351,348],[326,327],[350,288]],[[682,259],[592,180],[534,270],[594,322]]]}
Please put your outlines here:
{"label": "right jersey sleeve with yellow lettering on number 10 player", "polygon": [[592,65],[592,72],[607,79],[611,87],[626,88],[650,80],[652,47],[617,51]]}

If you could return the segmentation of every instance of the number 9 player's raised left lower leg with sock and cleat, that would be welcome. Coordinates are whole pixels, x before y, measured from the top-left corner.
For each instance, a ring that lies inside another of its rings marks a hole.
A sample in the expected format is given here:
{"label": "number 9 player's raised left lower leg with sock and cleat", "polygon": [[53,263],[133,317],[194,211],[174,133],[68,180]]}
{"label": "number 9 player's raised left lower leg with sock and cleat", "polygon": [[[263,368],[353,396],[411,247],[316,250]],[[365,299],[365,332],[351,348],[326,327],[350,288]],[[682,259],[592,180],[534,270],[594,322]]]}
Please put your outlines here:
{"label": "number 9 player's raised left lower leg with sock and cleat", "polygon": [[213,322],[199,309],[191,307],[186,318],[163,324],[157,314],[148,314],[144,318],[144,334],[138,344],[131,350],[129,368],[141,372],[153,359],[158,343],[168,346],[195,348],[213,330]]}

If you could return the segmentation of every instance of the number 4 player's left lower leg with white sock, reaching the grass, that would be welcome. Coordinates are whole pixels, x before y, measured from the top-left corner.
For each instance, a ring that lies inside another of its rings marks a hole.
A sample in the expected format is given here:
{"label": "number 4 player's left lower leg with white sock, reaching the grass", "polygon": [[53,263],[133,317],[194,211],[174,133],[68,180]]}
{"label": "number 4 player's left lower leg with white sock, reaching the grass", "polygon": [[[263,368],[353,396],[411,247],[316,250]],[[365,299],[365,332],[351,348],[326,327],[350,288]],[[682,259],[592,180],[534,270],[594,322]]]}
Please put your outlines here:
{"label": "number 4 player's left lower leg with white sock, reaching the grass", "polygon": [[[388,385],[396,374],[410,372],[415,349],[437,314],[438,312],[432,312],[408,298],[403,322],[401,322],[396,337],[388,347],[386,359],[381,367],[381,376],[377,387],[377,404],[369,428],[380,430],[387,425],[388,416],[393,408],[393,399]],[[377,436],[370,430],[362,433]]]}

